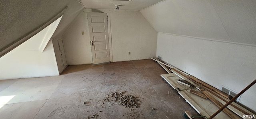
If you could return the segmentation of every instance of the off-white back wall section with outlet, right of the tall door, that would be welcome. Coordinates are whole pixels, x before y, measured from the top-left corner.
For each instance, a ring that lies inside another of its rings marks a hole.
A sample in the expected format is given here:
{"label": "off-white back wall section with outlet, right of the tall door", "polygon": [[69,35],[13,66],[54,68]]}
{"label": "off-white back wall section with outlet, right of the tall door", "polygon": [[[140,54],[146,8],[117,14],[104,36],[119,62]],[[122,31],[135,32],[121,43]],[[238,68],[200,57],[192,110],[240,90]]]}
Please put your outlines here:
{"label": "off-white back wall section with outlet, right of the tall door", "polygon": [[140,11],[110,10],[110,16],[113,62],[156,56],[157,32]]}

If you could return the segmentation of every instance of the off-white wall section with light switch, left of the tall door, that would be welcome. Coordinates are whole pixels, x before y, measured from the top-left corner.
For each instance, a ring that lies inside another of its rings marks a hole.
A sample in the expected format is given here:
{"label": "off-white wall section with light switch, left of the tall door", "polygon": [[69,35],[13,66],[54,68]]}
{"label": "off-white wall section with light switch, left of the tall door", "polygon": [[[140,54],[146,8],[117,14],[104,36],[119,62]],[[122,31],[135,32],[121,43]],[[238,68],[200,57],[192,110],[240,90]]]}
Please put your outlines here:
{"label": "off-white wall section with light switch, left of the tall door", "polygon": [[[68,65],[92,64],[87,16],[81,12],[63,35]],[[87,27],[86,27],[87,26]],[[84,31],[84,35],[82,35]]]}

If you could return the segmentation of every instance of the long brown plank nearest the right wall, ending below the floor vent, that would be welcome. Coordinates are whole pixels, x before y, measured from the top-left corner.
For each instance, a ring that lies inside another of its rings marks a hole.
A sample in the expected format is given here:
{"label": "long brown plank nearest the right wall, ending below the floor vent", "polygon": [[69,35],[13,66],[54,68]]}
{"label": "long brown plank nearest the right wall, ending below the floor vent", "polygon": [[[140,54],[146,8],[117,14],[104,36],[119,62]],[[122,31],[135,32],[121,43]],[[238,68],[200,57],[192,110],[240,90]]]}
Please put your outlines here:
{"label": "long brown plank nearest the right wall, ending below the floor vent", "polygon": [[227,99],[232,99],[232,96],[229,96],[228,94],[225,94],[224,92],[218,90],[217,88],[214,88],[213,86],[203,82],[202,80],[199,80],[198,78],[194,76],[188,76],[190,79],[194,80],[195,82],[198,82],[199,84],[202,84],[206,88],[209,88],[210,90],[213,90],[214,92],[220,94],[221,96],[227,98]]}

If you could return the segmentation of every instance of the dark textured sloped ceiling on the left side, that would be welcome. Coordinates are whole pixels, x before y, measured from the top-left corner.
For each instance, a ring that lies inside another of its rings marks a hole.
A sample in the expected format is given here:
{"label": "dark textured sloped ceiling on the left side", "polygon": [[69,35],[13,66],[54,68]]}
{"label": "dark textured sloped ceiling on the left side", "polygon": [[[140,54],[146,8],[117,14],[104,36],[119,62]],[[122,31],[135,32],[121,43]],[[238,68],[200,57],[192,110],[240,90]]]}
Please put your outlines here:
{"label": "dark textured sloped ceiling on the left side", "polygon": [[66,6],[59,32],[63,32],[82,9],[77,0],[0,0],[0,57],[6,48],[40,28]]}

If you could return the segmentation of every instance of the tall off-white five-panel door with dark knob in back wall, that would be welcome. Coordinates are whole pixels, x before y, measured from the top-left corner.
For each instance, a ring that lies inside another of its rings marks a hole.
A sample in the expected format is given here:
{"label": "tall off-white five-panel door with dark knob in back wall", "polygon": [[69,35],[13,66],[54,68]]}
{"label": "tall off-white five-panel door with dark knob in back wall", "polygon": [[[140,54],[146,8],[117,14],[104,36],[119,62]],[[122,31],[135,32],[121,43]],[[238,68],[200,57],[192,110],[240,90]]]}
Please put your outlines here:
{"label": "tall off-white five-panel door with dark knob in back wall", "polygon": [[110,62],[106,13],[88,12],[93,64]]}

